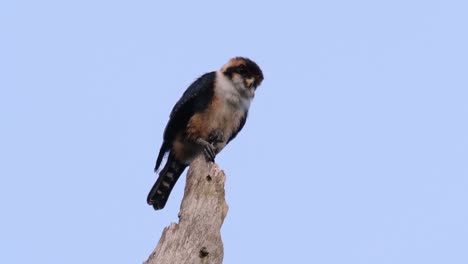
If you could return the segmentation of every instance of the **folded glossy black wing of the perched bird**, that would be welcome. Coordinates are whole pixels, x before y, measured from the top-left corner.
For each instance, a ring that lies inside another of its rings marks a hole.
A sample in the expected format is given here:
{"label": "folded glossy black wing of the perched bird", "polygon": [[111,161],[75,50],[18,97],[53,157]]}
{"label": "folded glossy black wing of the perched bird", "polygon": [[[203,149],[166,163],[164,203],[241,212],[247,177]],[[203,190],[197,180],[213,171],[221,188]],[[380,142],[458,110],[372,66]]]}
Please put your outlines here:
{"label": "folded glossy black wing of the perched bird", "polygon": [[195,80],[177,101],[164,130],[164,142],[159,150],[155,171],[161,165],[164,154],[170,150],[177,132],[182,131],[196,112],[203,111],[213,99],[216,72],[209,72]]}

